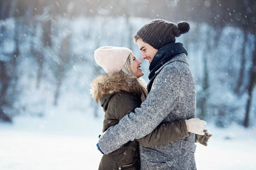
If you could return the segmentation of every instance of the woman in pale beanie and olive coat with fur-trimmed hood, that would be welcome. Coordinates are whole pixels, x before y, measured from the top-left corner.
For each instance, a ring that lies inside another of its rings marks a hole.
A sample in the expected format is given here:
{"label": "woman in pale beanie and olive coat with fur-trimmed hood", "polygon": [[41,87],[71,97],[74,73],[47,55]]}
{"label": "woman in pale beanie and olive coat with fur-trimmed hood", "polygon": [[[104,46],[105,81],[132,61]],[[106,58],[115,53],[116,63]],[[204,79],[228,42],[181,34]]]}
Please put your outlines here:
{"label": "woman in pale beanie and olive coat with fur-trimmed hood", "polygon": [[[95,61],[107,73],[96,77],[90,90],[95,102],[100,102],[105,112],[104,132],[117,124],[123,116],[140,107],[148,94],[147,84],[140,78],[143,76],[140,66],[142,62],[127,48],[100,47],[95,51]],[[168,144],[189,136],[186,126],[194,125],[199,128],[198,132],[203,129],[198,119],[189,119],[187,124],[185,120],[160,124],[147,136],[130,141],[108,155],[104,154],[99,170],[139,170],[139,143],[144,146]],[[199,138],[202,140],[203,136]]]}

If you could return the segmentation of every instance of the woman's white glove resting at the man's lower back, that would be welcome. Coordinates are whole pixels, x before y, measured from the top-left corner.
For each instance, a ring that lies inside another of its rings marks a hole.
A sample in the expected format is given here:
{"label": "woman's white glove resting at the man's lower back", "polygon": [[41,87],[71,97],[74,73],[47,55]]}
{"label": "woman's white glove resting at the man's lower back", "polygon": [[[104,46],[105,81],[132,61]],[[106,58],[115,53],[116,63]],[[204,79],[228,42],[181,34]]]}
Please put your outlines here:
{"label": "woman's white glove resting at the man's lower back", "polygon": [[198,135],[204,135],[204,126],[206,125],[206,122],[204,120],[200,120],[198,118],[192,118],[185,120],[188,132],[198,134]]}

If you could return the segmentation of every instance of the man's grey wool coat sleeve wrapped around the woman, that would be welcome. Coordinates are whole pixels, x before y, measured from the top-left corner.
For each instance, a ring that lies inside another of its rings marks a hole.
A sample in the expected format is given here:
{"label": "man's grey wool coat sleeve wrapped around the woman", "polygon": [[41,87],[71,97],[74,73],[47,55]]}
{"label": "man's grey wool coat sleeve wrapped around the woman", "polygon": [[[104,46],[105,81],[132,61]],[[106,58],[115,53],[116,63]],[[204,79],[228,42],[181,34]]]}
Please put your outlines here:
{"label": "man's grey wool coat sleeve wrapped around the woman", "polygon": [[111,153],[123,144],[140,139],[151,133],[161,121],[175,110],[180,96],[181,76],[173,66],[166,66],[155,78],[152,90],[140,108],[125,115],[100,137],[99,146],[105,153]]}

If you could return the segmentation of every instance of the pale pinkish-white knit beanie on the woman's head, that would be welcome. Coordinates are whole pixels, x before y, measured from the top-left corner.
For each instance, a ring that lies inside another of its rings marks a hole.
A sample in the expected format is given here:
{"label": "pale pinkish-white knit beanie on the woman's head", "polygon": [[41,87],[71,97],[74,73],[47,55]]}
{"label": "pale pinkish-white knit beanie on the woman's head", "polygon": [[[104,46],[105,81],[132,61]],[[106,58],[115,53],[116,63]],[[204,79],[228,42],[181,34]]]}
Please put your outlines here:
{"label": "pale pinkish-white knit beanie on the woman's head", "polygon": [[94,51],[96,63],[108,75],[118,73],[132,51],[125,47],[104,46]]}

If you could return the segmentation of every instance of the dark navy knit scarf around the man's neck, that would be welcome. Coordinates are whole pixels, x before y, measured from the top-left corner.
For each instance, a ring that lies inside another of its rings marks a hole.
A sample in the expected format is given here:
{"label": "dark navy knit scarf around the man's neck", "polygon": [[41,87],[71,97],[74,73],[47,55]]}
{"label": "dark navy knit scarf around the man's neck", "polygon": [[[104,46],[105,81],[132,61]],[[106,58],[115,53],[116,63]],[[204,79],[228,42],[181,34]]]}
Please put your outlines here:
{"label": "dark navy knit scarf around the man's neck", "polygon": [[163,47],[161,47],[154,58],[152,59],[150,66],[149,66],[149,84],[148,84],[148,92],[151,91],[151,87],[153,81],[156,77],[155,72],[162,67],[166,62],[171,60],[175,55],[185,53],[188,55],[188,51],[183,47],[183,44],[180,42],[177,43],[169,43]]}

